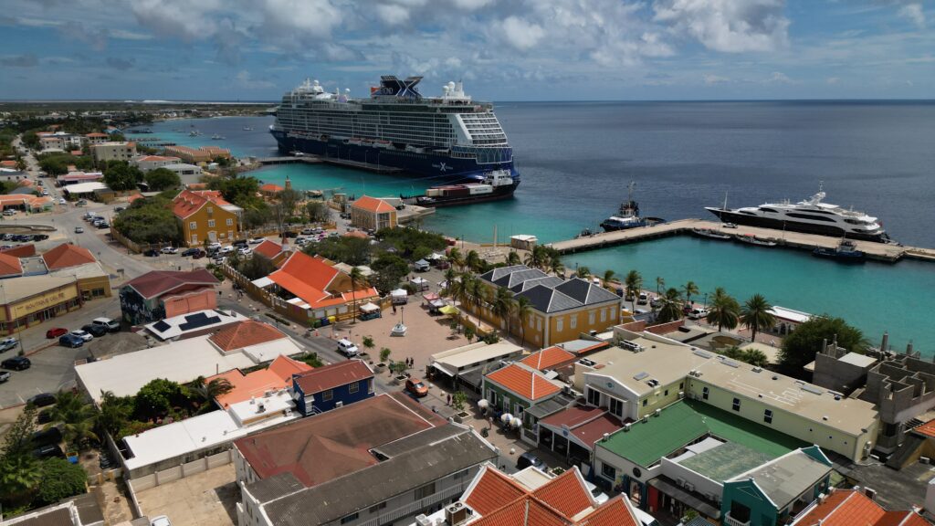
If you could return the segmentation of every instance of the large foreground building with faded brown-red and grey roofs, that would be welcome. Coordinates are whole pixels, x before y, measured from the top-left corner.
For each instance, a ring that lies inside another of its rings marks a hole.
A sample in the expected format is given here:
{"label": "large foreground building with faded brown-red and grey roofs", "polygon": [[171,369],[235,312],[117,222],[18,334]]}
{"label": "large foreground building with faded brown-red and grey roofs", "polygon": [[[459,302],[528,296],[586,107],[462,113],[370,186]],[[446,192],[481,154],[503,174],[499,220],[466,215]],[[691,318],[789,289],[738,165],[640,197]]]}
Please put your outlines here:
{"label": "large foreground building with faded brown-red and grey roofs", "polygon": [[496,450],[381,394],[234,443],[240,526],[405,524],[456,502]]}

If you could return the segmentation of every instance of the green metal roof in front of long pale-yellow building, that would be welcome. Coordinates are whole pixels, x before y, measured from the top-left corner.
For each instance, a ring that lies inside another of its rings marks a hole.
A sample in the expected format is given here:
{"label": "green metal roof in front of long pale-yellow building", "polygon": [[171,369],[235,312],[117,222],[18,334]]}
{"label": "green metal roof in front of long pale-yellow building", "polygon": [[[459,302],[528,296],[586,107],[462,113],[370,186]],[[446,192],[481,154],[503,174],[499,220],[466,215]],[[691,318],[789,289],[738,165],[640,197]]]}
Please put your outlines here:
{"label": "green metal roof in front of long pale-yellow building", "polygon": [[634,422],[630,431],[617,431],[597,446],[643,467],[681,449],[707,434],[745,446],[769,459],[808,446],[796,438],[751,422],[704,402],[675,402],[650,416],[646,423]]}

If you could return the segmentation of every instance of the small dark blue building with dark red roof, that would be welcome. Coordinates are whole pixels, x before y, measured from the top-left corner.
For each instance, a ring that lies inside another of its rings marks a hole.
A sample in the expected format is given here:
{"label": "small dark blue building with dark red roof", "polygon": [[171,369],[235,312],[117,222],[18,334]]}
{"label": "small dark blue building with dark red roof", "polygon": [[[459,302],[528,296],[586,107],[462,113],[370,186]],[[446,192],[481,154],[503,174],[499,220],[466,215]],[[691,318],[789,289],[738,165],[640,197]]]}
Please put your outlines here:
{"label": "small dark blue building with dark red roof", "polygon": [[349,359],[293,374],[293,386],[295,409],[311,416],[372,397],[373,371],[364,360]]}

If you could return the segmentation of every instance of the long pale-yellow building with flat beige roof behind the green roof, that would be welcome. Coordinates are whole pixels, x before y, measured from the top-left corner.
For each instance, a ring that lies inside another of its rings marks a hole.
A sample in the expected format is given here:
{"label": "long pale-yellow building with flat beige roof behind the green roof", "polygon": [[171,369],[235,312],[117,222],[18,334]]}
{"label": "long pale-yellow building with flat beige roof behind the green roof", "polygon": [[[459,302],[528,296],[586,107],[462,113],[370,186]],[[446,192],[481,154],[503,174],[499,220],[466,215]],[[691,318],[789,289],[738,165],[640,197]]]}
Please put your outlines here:
{"label": "long pale-yellow building with flat beige roof behind the green roof", "polygon": [[619,346],[575,363],[574,385],[589,405],[621,418],[653,416],[687,398],[855,461],[876,441],[879,414],[870,402],[649,332],[614,328],[614,339]]}

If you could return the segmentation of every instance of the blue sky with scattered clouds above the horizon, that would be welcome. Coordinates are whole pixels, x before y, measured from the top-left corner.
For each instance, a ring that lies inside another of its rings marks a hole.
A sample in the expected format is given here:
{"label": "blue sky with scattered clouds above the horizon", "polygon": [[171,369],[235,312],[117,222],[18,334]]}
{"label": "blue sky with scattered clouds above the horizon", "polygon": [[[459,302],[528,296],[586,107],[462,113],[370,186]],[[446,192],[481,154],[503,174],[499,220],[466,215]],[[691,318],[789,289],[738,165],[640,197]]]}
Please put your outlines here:
{"label": "blue sky with scattered clouds above the horizon", "polygon": [[0,99],[933,98],[929,0],[0,0]]}

